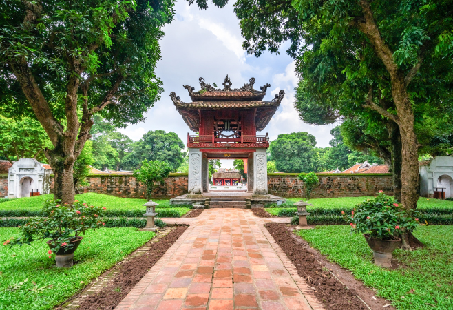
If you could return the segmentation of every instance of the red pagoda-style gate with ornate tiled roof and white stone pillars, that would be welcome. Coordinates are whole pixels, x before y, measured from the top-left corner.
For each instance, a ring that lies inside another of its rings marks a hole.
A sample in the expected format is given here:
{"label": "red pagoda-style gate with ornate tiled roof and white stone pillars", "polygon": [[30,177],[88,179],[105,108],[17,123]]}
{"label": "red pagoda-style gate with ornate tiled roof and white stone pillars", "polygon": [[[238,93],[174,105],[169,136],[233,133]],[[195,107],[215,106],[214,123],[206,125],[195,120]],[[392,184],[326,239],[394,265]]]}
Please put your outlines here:
{"label": "red pagoda-style gate with ornate tiled roof and white stone pillars", "polygon": [[189,194],[208,192],[209,159],[244,159],[247,166],[248,191],[267,194],[267,154],[269,137],[257,136],[257,131],[271,120],[283,99],[284,91],[271,101],[262,101],[271,85],[253,89],[251,78],[239,89],[231,88],[229,77],[223,89],[216,89],[200,78],[201,89],[184,85],[189,91],[191,103],[183,103],[171,92],[176,109],[193,132],[187,134],[189,149]]}

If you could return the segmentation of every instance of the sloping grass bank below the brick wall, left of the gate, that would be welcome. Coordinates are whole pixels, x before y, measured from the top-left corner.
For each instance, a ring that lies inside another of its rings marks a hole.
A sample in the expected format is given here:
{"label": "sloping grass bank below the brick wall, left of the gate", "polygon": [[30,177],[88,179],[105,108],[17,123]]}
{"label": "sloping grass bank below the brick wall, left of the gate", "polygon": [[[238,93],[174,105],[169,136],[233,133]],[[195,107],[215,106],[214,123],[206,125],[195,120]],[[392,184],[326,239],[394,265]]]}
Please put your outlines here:
{"label": "sloping grass bank below the brick wall, left of the gate", "polygon": [[[13,200],[6,201],[4,203],[0,203],[0,213],[1,211],[39,211],[43,205],[44,200],[52,199],[53,195],[41,195],[41,196],[34,196],[34,197],[24,197],[24,198],[17,198]],[[76,200],[85,201],[89,204],[106,207],[107,212],[114,212],[116,214],[122,212],[129,212],[129,213],[136,213],[136,214],[143,214],[145,213],[145,207],[143,204],[147,202],[146,199],[136,199],[136,198],[123,198],[123,197],[115,197],[105,194],[97,194],[97,193],[86,193],[76,195]],[[173,207],[170,205],[169,199],[153,199],[156,203],[158,203],[158,207],[156,207],[156,211],[159,212],[160,209],[173,209],[174,211],[178,211],[180,216],[186,214],[189,211],[188,207]],[[123,214],[127,216],[127,214]],[[120,216],[123,216],[120,215]],[[142,215],[143,216],[143,215]]]}

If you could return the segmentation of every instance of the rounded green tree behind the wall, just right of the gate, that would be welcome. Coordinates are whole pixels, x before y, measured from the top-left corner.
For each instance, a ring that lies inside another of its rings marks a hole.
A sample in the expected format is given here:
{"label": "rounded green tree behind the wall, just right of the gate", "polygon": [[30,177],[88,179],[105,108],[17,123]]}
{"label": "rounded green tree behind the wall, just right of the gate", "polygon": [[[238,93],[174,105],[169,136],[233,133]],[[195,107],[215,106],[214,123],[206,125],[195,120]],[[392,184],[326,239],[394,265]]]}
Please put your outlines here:
{"label": "rounded green tree behind the wall, just right of the gate", "polygon": [[310,172],[315,145],[315,136],[306,132],[279,134],[270,146],[275,167],[281,172]]}

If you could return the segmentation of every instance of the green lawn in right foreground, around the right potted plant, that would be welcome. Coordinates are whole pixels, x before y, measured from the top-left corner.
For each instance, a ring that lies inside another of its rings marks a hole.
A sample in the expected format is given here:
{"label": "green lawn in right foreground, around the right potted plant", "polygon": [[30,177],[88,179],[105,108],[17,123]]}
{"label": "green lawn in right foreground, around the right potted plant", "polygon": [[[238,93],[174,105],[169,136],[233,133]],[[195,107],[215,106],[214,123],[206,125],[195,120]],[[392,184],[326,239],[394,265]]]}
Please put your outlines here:
{"label": "green lawn in right foreground, around the right potted plant", "polygon": [[426,247],[394,251],[394,258],[405,267],[393,270],[375,266],[365,238],[351,235],[344,225],[317,226],[297,234],[397,309],[453,309],[453,226],[418,227],[414,235]]}

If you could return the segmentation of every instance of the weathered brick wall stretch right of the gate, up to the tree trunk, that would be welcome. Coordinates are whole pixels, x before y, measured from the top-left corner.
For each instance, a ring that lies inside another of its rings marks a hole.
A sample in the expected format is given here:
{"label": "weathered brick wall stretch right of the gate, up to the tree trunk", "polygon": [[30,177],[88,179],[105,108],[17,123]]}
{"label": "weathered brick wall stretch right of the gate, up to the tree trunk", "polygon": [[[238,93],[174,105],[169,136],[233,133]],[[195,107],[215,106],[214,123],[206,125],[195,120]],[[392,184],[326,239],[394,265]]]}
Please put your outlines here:
{"label": "weathered brick wall stretch right of the gate, up to the tree trunk", "polygon": [[[312,198],[372,196],[380,189],[386,194],[393,194],[393,182],[390,174],[361,176],[323,176],[318,174],[319,186],[313,189]],[[269,175],[268,193],[281,197],[304,196],[304,183],[297,175]]]}

